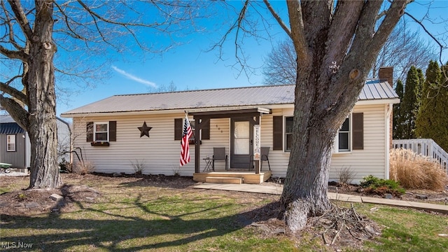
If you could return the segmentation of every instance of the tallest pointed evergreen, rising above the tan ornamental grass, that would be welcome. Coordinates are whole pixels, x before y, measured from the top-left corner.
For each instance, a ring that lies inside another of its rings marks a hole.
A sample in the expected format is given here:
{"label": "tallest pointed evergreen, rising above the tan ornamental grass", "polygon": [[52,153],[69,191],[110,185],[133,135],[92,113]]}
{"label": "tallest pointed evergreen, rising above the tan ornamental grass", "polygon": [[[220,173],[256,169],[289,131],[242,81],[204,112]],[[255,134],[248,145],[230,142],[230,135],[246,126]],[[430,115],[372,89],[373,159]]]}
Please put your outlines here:
{"label": "tallest pointed evergreen, rising above the tan ornamental grass", "polygon": [[423,83],[421,106],[416,119],[416,137],[434,139],[436,142],[437,112],[435,107],[441,78],[442,71],[440,71],[439,64],[431,60],[426,69],[426,81]]}

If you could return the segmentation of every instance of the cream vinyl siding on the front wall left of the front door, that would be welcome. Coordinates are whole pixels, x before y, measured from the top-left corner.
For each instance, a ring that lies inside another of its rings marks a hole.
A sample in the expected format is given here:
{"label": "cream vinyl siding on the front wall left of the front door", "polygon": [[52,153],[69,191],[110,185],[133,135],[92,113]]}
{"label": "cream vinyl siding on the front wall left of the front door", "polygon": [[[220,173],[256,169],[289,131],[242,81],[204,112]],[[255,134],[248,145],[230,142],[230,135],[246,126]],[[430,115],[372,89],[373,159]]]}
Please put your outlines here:
{"label": "cream vinyl siding on the front wall left of the front door", "polygon": [[[182,118],[184,114],[148,115],[148,116],[117,116],[113,118],[73,118],[73,146],[83,150],[85,161],[92,162],[95,172],[125,172],[133,174],[132,162],[144,162],[144,174],[193,176],[195,172],[195,146],[190,145],[190,162],[179,169],[181,157],[181,141],[174,140],[174,119]],[[193,119],[193,117],[190,117]],[[116,120],[116,141],[108,147],[91,146],[86,142],[85,123]],[[141,127],[146,121],[152,127],[148,137],[140,137]],[[202,140],[201,161],[207,155],[213,155],[213,147],[225,147],[229,151],[229,119],[211,119],[210,140]],[[80,153],[78,153],[79,155]],[[78,162],[76,155],[74,162]],[[203,169],[205,165],[201,163]]]}

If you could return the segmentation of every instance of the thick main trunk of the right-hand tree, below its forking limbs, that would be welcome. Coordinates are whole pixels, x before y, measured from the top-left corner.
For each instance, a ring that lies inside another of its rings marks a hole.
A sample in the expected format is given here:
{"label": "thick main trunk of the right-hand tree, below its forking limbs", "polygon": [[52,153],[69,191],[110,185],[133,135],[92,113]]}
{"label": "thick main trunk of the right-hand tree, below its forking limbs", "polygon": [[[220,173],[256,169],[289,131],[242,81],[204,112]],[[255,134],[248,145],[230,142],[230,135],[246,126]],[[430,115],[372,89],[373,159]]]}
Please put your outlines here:
{"label": "thick main trunk of the right-hand tree, below its forking limbs", "polygon": [[[301,85],[295,87],[293,146],[281,199],[286,224],[293,232],[304,228],[308,216],[331,207],[328,169],[334,138],[345,118],[323,109],[328,99],[321,95],[325,88],[318,78],[309,73],[300,76]],[[341,114],[344,111],[348,110]]]}

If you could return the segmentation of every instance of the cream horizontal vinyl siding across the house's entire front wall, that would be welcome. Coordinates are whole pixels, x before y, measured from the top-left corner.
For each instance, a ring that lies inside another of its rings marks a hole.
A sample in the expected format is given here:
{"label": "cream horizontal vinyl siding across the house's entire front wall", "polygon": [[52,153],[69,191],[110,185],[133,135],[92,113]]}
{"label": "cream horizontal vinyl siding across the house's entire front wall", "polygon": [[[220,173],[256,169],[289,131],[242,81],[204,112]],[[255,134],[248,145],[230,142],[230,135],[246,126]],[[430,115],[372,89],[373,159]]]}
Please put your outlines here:
{"label": "cream horizontal vinyl siding across the house's entire front wall", "polygon": [[[353,113],[363,113],[364,149],[352,150],[347,153],[334,153],[330,165],[330,181],[339,179],[341,169],[351,169],[356,177],[353,183],[358,183],[364,176],[372,174],[384,178],[386,170],[386,104],[356,105]],[[285,177],[288,169],[290,153],[273,151],[273,116],[291,116],[290,109],[272,109],[272,114],[263,115],[261,120],[260,146],[269,146],[269,163],[273,177]],[[132,162],[139,160],[146,163],[144,174],[193,176],[195,172],[195,145],[190,145],[190,162],[179,168],[181,141],[174,140],[174,119],[183,118],[183,113],[148,114],[135,116],[86,117],[73,118],[73,147],[83,150],[85,161],[92,162],[95,172],[125,172],[133,174]],[[116,141],[109,147],[91,146],[86,142],[85,125],[87,122],[116,121]],[[190,116],[193,120],[193,116]],[[137,127],[146,121],[152,127],[149,137],[140,137]],[[214,147],[224,147],[230,158],[230,118],[210,120],[210,139],[202,139],[200,146],[200,168],[205,167],[203,158],[213,155]],[[78,153],[79,154],[79,153]],[[76,160],[76,155],[73,155]],[[230,162],[229,162],[230,163]],[[217,169],[223,169],[224,162],[218,162]],[[222,167],[221,167],[222,166]],[[267,170],[263,163],[262,170]]]}

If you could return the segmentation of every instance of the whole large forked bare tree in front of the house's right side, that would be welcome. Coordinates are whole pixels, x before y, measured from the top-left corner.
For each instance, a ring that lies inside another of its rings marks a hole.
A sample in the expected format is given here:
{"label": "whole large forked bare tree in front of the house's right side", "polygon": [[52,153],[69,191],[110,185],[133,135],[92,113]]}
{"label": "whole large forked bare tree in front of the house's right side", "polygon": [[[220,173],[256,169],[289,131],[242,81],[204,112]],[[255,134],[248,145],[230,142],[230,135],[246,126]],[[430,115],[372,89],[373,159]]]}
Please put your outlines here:
{"label": "whole large forked bare tree in front of the house's right side", "polygon": [[[307,216],[330,209],[328,170],[335,136],[409,1],[286,1],[289,26],[269,1],[263,3],[297,55],[293,144],[281,195],[286,225],[295,232],[304,228]],[[232,27],[237,36],[250,29],[241,27],[248,6],[251,2],[244,1]]]}

